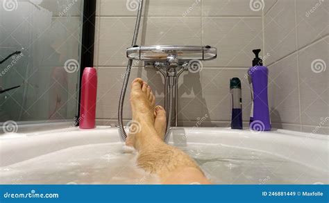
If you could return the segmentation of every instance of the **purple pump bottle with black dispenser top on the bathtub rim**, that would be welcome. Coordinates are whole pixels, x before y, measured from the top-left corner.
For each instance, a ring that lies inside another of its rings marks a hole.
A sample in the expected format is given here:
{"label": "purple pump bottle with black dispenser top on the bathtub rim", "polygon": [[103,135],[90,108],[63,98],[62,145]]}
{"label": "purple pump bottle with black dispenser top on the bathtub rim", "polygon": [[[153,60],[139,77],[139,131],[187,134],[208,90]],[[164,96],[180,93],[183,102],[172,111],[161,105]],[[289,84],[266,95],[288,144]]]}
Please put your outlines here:
{"label": "purple pump bottle with black dispenser top on the bathtub rim", "polygon": [[248,70],[252,99],[249,127],[251,130],[269,131],[271,130],[267,96],[269,69],[263,66],[262,59],[259,58],[260,51],[260,49],[253,50],[255,59],[253,60],[253,67]]}

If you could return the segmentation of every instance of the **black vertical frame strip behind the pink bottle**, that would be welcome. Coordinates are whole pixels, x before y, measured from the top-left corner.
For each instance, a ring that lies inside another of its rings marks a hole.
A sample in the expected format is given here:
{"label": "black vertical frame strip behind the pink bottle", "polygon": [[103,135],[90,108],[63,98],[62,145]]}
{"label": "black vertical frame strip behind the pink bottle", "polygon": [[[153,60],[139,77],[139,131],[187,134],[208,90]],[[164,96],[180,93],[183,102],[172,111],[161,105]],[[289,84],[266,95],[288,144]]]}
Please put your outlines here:
{"label": "black vertical frame strip behind the pink bottle", "polygon": [[96,16],[96,0],[85,0],[83,2],[83,30],[81,44],[81,64],[80,64],[80,83],[79,83],[79,103],[78,118],[80,118],[80,102],[81,102],[81,80],[85,67],[94,67],[94,37],[95,37],[95,16]]}

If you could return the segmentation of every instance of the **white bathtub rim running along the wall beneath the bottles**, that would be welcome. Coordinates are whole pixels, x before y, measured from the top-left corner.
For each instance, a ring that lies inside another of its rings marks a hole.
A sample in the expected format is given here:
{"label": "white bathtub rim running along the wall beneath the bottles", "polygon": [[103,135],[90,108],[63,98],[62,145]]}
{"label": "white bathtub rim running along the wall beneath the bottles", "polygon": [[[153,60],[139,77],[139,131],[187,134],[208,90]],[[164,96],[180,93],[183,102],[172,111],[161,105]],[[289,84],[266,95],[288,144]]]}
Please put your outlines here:
{"label": "white bathtub rim running along the wall beneath the bottles", "polygon": [[[230,130],[230,128],[223,127],[200,127],[197,129],[192,127],[174,127],[173,132],[175,136],[174,138],[171,136],[170,141],[174,143],[180,141],[179,139],[184,136],[184,134],[179,134],[179,132],[184,132],[188,134],[187,140],[189,143],[204,144],[214,141],[217,144],[262,150],[281,157],[289,154],[289,148],[296,148],[298,153],[294,157],[289,157],[292,160],[303,164],[306,164],[305,162],[308,161],[314,163],[315,168],[328,169],[328,163],[325,163],[327,166],[323,167],[320,163],[321,161],[312,160],[308,157],[310,155],[307,155],[307,150],[311,148],[312,152],[321,154],[321,159],[326,161],[329,151],[328,136],[318,134],[310,136],[309,134],[296,133],[289,130],[253,134],[249,130]],[[201,134],[207,134],[207,139],[201,136]],[[237,143],[241,140],[243,140],[241,142],[242,145],[238,145]],[[302,141],[309,146],[301,144]],[[69,127],[62,130],[48,130],[24,135],[12,134],[10,137],[0,139],[0,166],[8,166],[78,145],[115,142],[121,142],[117,127],[97,127],[95,130],[79,130],[78,127]],[[52,145],[52,143],[55,143],[55,145]],[[322,147],[319,148],[319,146]],[[282,150],[278,151],[276,148],[282,148]],[[307,159],[307,161],[304,159]]]}

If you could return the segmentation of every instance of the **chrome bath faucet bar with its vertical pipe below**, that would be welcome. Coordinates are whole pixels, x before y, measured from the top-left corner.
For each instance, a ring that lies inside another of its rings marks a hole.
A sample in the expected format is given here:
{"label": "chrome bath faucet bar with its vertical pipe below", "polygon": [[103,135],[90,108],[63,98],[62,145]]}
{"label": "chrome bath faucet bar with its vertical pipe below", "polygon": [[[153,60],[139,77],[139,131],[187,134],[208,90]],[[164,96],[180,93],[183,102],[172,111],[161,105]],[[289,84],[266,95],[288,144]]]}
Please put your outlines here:
{"label": "chrome bath faucet bar with its vertical pipe below", "polygon": [[[162,73],[165,78],[167,121],[170,121],[171,126],[178,126],[178,78],[181,73],[189,70],[189,62],[217,58],[217,48],[212,46],[133,46],[127,48],[127,58],[144,61],[145,67],[153,67]],[[171,115],[174,115],[174,118],[171,118]]]}

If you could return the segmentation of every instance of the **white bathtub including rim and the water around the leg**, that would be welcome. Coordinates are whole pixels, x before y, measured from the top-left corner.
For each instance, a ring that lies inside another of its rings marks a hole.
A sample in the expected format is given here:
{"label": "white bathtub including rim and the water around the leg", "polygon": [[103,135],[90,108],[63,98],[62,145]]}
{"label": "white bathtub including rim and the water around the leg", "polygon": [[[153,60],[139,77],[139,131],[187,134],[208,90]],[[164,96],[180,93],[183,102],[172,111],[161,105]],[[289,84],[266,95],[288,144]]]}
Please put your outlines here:
{"label": "white bathtub including rim and the water around the leg", "polygon": [[[328,184],[328,136],[288,130],[174,127],[169,144],[214,184]],[[0,136],[0,184],[158,184],[116,127]]]}

